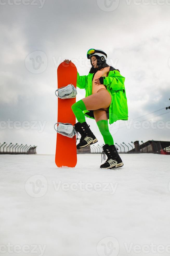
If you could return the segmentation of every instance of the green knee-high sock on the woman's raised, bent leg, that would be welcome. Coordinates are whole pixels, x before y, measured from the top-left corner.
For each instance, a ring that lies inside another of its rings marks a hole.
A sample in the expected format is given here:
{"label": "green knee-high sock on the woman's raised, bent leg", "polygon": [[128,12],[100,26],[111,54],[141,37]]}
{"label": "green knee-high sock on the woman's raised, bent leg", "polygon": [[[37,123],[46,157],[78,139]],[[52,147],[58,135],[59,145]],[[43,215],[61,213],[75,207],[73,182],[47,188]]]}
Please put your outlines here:
{"label": "green knee-high sock on the woman's raised, bent leg", "polygon": [[84,104],[84,102],[82,100],[74,103],[71,106],[71,109],[73,110],[73,113],[75,114],[78,122],[80,122],[82,124],[83,122],[86,121],[83,110],[87,110],[87,109],[86,109],[86,105]]}

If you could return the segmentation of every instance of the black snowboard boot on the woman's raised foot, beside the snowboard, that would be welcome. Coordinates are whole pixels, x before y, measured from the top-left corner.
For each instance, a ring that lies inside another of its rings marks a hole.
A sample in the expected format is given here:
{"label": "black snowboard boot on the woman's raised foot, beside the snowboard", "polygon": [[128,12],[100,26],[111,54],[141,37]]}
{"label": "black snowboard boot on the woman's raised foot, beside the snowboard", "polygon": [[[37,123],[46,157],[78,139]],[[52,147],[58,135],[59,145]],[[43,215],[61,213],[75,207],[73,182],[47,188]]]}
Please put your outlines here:
{"label": "black snowboard boot on the woman's raised foot, beside the snowboard", "polygon": [[90,130],[89,126],[90,125],[88,125],[86,122],[78,122],[74,125],[74,129],[81,135],[80,142],[76,146],[77,149],[86,148],[98,141],[93,132]]}

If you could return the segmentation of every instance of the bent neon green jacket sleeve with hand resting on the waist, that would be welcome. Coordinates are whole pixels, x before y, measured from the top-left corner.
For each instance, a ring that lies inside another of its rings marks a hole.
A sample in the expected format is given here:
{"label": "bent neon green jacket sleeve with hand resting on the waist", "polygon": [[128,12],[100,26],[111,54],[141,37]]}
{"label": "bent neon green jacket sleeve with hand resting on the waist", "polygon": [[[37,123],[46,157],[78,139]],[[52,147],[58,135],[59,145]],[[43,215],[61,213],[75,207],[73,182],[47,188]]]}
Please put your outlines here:
{"label": "bent neon green jacket sleeve with hand resting on the waist", "polygon": [[123,89],[125,82],[125,77],[123,77],[118,70],[112,72],[108,77],[104,77],[103,84],[106,85],[106,88],[118,91]]}

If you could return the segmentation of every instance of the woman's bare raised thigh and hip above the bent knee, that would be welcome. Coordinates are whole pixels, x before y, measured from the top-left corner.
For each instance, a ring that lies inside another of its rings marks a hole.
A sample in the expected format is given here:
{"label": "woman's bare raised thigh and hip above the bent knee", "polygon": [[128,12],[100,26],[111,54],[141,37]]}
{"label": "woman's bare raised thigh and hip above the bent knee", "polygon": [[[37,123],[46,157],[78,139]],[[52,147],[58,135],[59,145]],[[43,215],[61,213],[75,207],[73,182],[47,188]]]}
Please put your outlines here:
{"label": "woman's bare raised thigh and hip above the bent knee", "polygon": [[87,110],[96,110],[96,109],[108,109],[112,98],[108,92],[108,90],[101,88],[95,94],[92,94],[86,98],[83,98]]}

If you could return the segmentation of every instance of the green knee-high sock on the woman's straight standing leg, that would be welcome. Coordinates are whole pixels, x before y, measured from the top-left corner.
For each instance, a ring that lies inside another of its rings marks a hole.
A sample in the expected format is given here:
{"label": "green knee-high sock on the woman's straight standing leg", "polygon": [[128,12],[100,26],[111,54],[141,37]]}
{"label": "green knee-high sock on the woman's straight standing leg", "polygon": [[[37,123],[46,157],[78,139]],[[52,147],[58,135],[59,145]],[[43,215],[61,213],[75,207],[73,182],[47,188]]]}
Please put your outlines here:
{"label": "green knee-high sock on the woman's straight standing leg", "polygon": [[99,131],[103,136],[105,144],[108,144],[109,146],[114,145],[113,137],[109,132],[108,120],[97,121],[97,126],[99,127]]}

